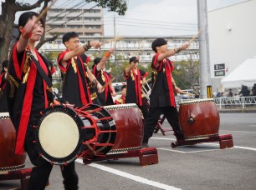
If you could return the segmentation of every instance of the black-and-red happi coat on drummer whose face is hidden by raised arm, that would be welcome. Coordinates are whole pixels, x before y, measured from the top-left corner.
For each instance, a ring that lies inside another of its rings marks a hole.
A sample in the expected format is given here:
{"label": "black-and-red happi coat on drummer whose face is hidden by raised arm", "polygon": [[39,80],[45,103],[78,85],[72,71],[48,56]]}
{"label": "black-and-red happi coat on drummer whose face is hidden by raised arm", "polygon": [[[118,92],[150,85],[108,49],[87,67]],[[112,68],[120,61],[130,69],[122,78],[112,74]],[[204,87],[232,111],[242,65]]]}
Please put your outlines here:
{"label": "black-and-red happi coat on drummer whose face is hidden by raised arm", "polygon": [[[112,77],[110,73],[103,71],[102,69],[100,71],[97,70],[97,66],[94,65],[92,69],[93,74],[97,78],[97,80],[100,82],[102,86],[105,85],[106,82],[110,81],[110,78]],[[113,105],[113,98],[111,96],[111,88],[110,85],[105,87],[104,92],[97,93],[98,97],[100,99],[100,102],[102,106],[108,106],[108,105]]]}

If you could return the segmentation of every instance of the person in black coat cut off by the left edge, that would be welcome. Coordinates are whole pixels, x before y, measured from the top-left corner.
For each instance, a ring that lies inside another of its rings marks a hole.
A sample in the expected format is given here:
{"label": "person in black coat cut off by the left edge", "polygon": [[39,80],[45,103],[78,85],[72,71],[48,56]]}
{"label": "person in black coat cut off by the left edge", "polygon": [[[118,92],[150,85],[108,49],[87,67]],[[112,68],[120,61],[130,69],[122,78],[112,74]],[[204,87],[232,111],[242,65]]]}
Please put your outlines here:
{"label": "person in black coat cut off by the left edge", "polygon": [[8,112],[7,96],[4,91],[8,75],[8,62],[8,60],[3,61],[3,69],[0,72],[0,112]]}

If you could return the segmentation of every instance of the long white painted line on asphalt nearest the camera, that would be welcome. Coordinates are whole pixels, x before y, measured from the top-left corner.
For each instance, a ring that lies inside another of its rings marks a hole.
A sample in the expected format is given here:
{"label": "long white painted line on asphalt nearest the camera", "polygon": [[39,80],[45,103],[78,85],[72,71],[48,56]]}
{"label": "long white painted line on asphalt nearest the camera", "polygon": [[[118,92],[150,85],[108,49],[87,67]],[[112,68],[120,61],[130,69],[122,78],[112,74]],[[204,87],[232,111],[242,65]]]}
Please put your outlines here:
{"label": "long white painted line on asphalt nearest the camera", "polygon": [[[76,159],[75,162],[83,163],[83,160],[82,159]],[[117,169],[113,169],[113,168],[110,168],[110,167],[105,167],[105,166],[100,165],[98,163],[90,163],[90,164],[88,164],[88,166],[93,167],[93,168],[98,168],[98,169],[103,170],[105,172],[113,173],[115,175],[134,180],[138,183],[145,183],[146,185],[150,185],[150,186],[153,186],[153,187],[156,187],[156,188],[161,188],[161,189],[166,189],[166,190],[178,190],[178,189],[180,189],[180,188],[175,188],[175,187],[163,184],[163,183],[157,183],[155,181],[151,181],[151,180],[148,180],[146,178],[141,178],[139,176],[132,175],[130,173],[125,173],[125,172],[122,172],[122,171],[117,170]]]}

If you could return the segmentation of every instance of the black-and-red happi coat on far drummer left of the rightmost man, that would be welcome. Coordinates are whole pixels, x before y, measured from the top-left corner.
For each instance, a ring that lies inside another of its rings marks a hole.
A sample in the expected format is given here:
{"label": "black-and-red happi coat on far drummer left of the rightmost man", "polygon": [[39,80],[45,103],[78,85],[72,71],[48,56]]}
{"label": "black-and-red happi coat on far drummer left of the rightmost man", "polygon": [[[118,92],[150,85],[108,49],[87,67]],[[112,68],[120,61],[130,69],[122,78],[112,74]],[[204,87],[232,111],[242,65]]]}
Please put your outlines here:
{"label": "black-and-red happi coat on far drummer left of the rightmost man", "polygon": [[143,96],[141,91],[142,78],[146,76],[147,72],[141,69],[137,69],[137,74],[132,69],[129,75],[125,75],[125,80],[127,81],[125,103],[136,103],[139,106],[146,105],[146,101],[142,100],[143,98],[146,99],[146,97]]}

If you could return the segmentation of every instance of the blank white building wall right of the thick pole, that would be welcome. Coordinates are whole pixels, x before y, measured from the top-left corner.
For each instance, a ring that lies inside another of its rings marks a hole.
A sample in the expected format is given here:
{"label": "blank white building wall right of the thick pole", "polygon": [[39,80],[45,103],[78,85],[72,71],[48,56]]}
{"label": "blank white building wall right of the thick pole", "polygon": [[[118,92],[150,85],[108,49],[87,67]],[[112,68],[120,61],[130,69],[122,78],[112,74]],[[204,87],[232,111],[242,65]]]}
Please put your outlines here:
{"label": "blank white building wall right of the thick pole", "polygon": [[225,63],[227,76],[256,55],[256,0],[213,10],[207,16],[212,91],[217,91],[223,77],[214,76],[214,64]]}

